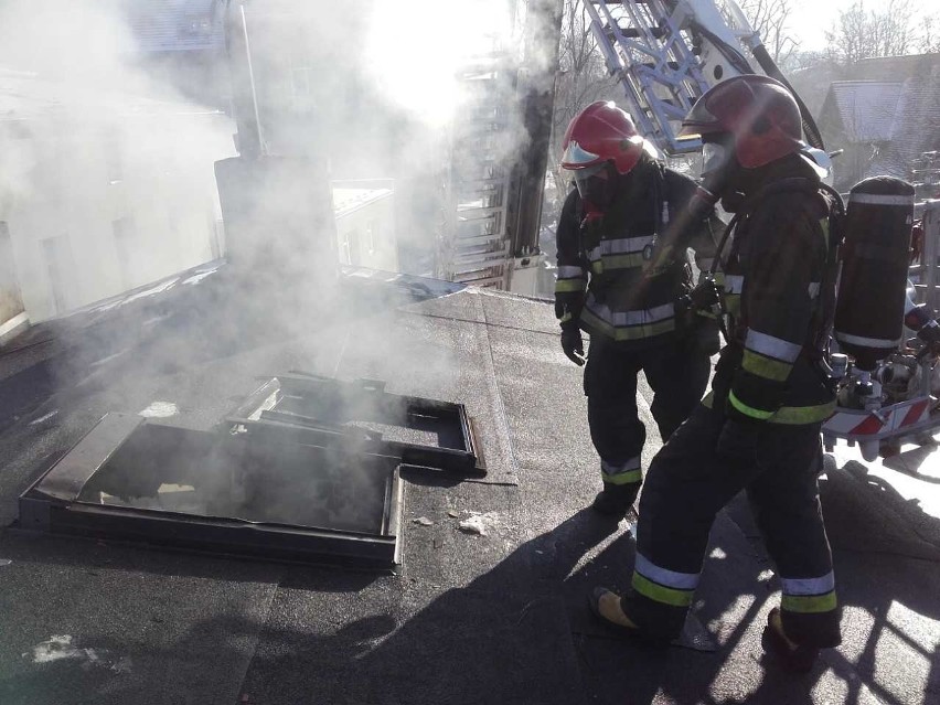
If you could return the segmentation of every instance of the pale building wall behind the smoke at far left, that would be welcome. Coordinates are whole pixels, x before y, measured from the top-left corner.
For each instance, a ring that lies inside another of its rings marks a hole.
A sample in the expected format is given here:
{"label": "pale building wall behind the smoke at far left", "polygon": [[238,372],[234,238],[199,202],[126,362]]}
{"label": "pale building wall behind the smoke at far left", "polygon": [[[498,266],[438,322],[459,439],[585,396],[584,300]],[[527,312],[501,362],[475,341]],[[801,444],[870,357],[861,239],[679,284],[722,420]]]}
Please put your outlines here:
{"label": "pale building wall behind the smoke at far left", "polygon": [[109,125],[62,116],[19,129],[25,165],[17,182],[0,183],[0,221],[30,319],[217,257],[213,163],[234,153],[232,131],[216,114],[128,115]]}

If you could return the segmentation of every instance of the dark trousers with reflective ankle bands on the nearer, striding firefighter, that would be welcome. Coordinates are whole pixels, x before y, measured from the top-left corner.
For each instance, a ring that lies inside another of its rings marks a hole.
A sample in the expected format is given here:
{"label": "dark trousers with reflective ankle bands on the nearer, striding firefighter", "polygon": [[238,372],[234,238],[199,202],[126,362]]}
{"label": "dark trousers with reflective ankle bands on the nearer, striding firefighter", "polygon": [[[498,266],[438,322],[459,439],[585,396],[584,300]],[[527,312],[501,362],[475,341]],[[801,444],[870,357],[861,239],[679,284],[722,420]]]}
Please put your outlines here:
{"label": "dark trousers with reflective ankle bands on the nearer, striding firefighter", "polygon": [[820,425],[761,424],[752,446],[722,455],[715,448],[724,423],[723,413],[699,405],[653,460],[623,611],[654,639],[679,634],[715,515],[745,489],[782,584],[783,631],[799,644],[837,645],[832,554],[816,482]]}

